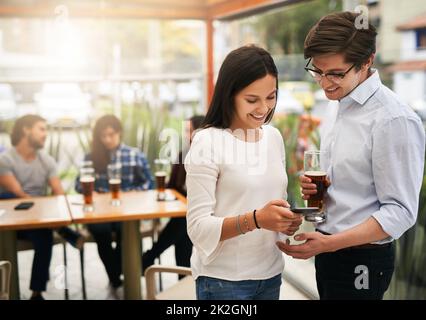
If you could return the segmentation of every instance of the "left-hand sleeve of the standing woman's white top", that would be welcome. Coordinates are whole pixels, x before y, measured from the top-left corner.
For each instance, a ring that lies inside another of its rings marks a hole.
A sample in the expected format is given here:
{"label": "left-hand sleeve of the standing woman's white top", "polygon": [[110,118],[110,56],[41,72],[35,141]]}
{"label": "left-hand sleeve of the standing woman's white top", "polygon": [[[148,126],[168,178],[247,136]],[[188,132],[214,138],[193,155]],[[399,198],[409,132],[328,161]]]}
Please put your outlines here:
{"label": "left-hand sleeve of the standing woman's white top", "polygon": [[200,131],[185,158],[188,235],[205,262],[214,258],[220,245],[224,220],[214,212],[219,165],[213,154],[209,133]]}

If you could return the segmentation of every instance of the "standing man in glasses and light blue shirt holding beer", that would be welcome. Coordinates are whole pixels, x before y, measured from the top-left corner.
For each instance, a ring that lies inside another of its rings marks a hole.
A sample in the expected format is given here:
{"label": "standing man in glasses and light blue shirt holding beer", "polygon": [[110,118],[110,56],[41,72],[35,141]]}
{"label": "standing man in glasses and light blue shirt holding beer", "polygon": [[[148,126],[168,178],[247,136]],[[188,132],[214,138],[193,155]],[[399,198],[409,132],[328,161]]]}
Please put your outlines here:
{"label": "standing man in glasses and light blue shirt holding beer", "polygon": [[[319,83],[333,116],[325,118],[330,186],[327,220],[316,232],[279,248],[299,259],[315,257],[321,299],[382,299],[394,271],[398,239],[417,219],[425,132],[417,115],[372,69],[376,30],[357,28],[351,12],[323,17],[305,39],[306,71]],[[315,184],[300,177],[303,198]]]}

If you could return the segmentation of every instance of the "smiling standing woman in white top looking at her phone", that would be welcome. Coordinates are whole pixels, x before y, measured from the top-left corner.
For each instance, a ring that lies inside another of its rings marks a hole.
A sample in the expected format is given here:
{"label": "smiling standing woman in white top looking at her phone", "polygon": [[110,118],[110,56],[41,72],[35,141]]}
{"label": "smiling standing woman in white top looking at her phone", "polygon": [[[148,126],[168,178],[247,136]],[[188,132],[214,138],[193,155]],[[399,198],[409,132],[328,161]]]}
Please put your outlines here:
{"label": "smiling standing woman in white top looking at her phone", "polygon": [[279,298],[284,263],[276,242],[302,220],[285,200],[281,134],[267,125],[277,94],[267,51],[245,46],[228,54],[185,160],[198,299]]}

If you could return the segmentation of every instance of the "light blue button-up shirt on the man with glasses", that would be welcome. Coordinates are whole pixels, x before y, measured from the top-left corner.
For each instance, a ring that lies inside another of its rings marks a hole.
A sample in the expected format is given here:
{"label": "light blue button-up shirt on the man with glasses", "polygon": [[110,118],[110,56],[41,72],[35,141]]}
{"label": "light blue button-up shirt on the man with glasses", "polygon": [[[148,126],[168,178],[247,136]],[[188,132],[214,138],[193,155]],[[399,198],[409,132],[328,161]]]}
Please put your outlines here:
{"label": "light blue button-up shirt on the man with glasses", "polygon": [[327,221],[334,234],[374,217],[398,239],[417,219],[425,129],[418,116],[385,87],[377,70],[340,101],[331,101],[321,128],[323,169],[331,180]]}

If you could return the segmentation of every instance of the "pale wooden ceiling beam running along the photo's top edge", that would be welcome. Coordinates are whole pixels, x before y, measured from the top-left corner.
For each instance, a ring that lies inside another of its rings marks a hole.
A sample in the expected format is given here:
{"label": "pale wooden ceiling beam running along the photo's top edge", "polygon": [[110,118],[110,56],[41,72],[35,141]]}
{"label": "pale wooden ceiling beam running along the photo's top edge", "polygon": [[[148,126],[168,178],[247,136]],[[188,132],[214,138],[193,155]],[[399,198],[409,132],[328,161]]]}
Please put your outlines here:
{"label": "pale wooden ceiling beam running along the photo's top edge", "polygon": [[[56,18],[59,6],[75,18],[231,20],[310,0],[104,0],[11,1],[0,4],[0,17]],[[1,2],[0,2],[1,3]]]}

